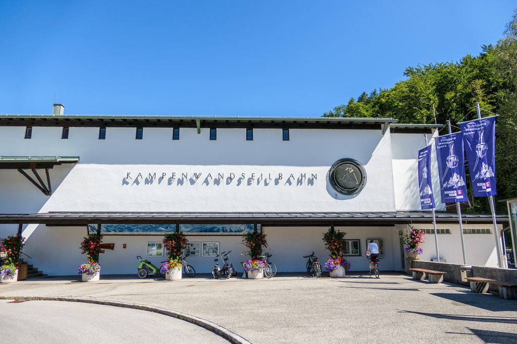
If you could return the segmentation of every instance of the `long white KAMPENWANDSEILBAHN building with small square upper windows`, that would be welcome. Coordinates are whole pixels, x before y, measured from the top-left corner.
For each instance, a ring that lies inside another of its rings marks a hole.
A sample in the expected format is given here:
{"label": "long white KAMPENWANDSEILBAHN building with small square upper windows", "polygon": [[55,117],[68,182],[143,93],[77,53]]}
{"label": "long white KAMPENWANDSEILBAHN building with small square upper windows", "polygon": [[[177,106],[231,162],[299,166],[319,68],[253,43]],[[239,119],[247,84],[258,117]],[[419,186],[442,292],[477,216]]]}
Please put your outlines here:
{"label": "long white KAMPENWANDSEILBAHN building with small square upper windows", "polygon": [[[197,272],[210,271],[217,250],[244,260],[241,231],[254,226],[266,232],[279,271],[303,271],[303,255],[328,259],[322,237],[330,225],[347,233],[352,270],[368,269],[370,239],[382,244],[383,270],[402,270],[408,224],[433,228],[431,212],[420,210],[416,156],[423,134],[431,138],[442,126],[384,118],[77,116],[64,115],[59,104],[54,113],[0,115],[0,237],[20,225],[24,252],[49,275],[77,272],[88,224],[94,231],[101,224],[103,242],[114,244],[100,257],[103,274],[136,273],[137,255],[165,260],[163,231],[176,225],[189,233]],[[463,263],[457,216],[444,209],[436,214],[440,258]],[[467,263],[497,266],[491,217],[463,219]],[[501,229],[508,222],[498,220]],[[421,259],[435,259],[433,235],[425,241]]]}

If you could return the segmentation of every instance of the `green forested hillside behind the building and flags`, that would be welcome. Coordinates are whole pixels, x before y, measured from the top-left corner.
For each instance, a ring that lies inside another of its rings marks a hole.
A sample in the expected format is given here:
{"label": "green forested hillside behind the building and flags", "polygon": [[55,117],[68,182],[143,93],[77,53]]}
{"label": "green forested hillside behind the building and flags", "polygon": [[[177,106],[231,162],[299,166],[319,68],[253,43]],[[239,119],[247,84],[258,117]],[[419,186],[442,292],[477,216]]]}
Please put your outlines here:
{"label": "green forested hillside behind the building and flags", "polygon": [[[499,114],[496,125],[496,178],[498,213],[517,197],[517,9],[495,45],[483,45],[478,56],[466,55],[457,62],[408,67],[406,80],[388,89],[374,89],[334,107],[324,117],[388,117],[399,123],[438,123],[448,119],[453,132],[458,122]],[[440,135],[447,134],[447,128]],[[416,152],[415,152],[416,154]],[[468,173],[468,170],[467,170]],[[472,191],[469,191],[472,192]],[[467,212],[489,213],[486,198],[475,198]]]}

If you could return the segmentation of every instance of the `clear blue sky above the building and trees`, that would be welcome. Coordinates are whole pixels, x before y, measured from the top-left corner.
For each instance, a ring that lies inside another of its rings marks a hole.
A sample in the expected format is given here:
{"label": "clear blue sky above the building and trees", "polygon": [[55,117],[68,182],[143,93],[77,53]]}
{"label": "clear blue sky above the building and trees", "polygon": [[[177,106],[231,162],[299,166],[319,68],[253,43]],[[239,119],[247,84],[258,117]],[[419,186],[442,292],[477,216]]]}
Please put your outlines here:
{"label": "clear blue sky above the building and trees", "polygon": [[0,113],[321,116],[477,55],[513,1],[2,1]]}

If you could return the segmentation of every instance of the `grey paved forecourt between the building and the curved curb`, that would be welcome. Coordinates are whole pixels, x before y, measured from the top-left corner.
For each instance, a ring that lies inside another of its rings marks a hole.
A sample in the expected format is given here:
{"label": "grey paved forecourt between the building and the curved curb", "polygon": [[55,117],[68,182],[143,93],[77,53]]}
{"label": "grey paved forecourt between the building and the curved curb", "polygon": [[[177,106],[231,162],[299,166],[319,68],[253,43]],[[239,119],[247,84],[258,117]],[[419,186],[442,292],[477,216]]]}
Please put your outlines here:
{"label": "grey paved forecourt between the building and the curved curb", "polygon": [[214,322],[253,343],[517,341],[517,301],[398,273],[380,279],[101,278],[98,283],[79,283],[75,276],[26,280],[0,285],[0,296],[70,296],[157,306]]}

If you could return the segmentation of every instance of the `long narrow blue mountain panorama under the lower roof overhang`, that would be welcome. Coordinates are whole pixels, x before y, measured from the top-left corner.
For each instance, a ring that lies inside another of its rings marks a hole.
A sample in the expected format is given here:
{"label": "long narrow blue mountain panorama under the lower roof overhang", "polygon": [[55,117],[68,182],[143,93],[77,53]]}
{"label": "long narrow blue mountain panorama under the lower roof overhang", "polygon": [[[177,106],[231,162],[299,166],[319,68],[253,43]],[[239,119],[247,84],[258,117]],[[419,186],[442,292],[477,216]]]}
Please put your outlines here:
{"label": "long narrow blue mountain panorama under the lower roof overhang", "polygon": [[[88,225],[90,233],[97,232],[97,225]],[[102,233],[170,233],[176,230],[176,225],[165,224],[103,224]],[[253,225],[179,225],[179,230],[185,233],[244,233],[253,230]]]}

